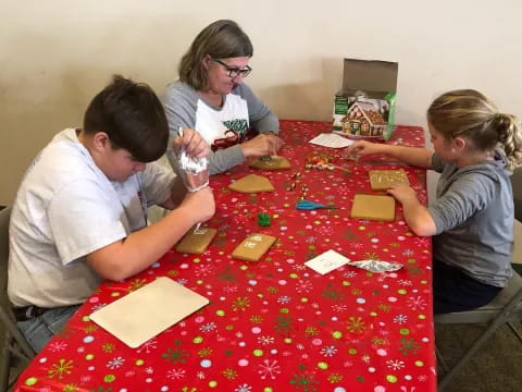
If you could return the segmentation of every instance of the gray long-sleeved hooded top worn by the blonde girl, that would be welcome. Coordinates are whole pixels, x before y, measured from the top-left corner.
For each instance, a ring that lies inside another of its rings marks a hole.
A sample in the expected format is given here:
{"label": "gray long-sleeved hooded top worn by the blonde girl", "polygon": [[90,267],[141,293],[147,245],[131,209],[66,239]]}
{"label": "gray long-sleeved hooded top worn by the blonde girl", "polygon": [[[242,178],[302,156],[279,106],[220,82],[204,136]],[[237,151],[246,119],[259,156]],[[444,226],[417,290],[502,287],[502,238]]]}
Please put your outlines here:
{"label": "gray long-sleeved hooded top worn by the blonde girl", "polygon": [[433,258],[469,277],[504,287],[511,277],[513,196],[506,155],[459,169],[434,154],[432,168],[442,173],[437,200],[428,207],[437,233]]}

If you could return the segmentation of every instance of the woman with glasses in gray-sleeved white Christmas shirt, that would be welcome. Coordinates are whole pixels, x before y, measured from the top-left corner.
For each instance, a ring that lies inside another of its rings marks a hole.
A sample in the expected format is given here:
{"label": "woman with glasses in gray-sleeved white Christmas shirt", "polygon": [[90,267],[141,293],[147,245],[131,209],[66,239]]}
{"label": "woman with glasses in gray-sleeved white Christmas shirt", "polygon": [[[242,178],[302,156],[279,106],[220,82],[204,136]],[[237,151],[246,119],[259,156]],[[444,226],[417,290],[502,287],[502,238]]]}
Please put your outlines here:
{"label": "woman with glasses in gray-sleeved white Christmas shirt", "polygon": [[[221,173],[248,157],[275,155],[277,117],[243,83],[253,48],[233,21],[216,21],[203,28],[179,63],[179,79],[164,95],[171,139],[178,130],[198,131],[212,146],[210,174]],[[247,135],[250,128],[258,134]],[[176,169],[172,149],[167,157]]]}

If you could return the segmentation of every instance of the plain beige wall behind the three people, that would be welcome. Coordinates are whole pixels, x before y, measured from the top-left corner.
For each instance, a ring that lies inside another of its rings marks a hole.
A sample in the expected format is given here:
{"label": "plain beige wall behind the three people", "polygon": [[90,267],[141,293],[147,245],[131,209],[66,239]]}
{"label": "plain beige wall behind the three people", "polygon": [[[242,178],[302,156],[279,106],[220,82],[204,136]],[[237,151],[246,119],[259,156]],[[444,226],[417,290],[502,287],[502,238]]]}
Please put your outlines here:
{"label": "plain beige wall behind the three people", "polygon": [[458,87],[522,114],[518,0],[0,0],[0,204],[112,73],[161,93],[216,19],[250,35],[248,83],[283,119],[331,120],[344,57],[399,62],[399,123],[423,125],[434,96]]}

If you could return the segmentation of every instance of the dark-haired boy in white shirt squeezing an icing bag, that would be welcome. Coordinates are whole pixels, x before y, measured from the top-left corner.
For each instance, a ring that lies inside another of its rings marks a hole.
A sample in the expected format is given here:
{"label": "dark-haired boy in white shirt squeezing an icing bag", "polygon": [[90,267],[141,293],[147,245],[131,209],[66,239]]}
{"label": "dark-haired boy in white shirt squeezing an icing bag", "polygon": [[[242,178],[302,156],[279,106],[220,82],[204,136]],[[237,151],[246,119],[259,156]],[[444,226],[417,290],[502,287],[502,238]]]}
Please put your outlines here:
{"label": "dark-haired boy in white shirt squeezing an icing bag", "polygon": [[[27,170],[11,215],[8,293],[37,352],[103,279],[140,272],[213,216],[209,187],[174,192],[175,175],[156,162],[167,140],[152,89],[114,76],[84,127],[60,132]],[[209,152],[191,130],[173,140],[182,146],[194,157]],[[151,205],[172,212],[147,226]]]}

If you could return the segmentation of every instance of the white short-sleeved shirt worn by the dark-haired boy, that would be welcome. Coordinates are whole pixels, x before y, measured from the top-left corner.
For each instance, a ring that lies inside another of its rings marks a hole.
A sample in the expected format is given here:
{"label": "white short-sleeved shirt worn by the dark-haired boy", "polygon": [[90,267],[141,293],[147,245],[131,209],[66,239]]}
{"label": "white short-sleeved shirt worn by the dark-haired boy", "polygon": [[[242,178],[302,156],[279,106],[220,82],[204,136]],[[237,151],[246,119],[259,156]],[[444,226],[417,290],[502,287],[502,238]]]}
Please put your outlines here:
{"label": "white short-sleeved shirt worn by the dark-haired boy", "polygon": [[102,278],[86,255],[144,228],[147,207],[165,201],[174,174],[157,162],[110,181],[79,143],[60,132],[35,158],[10,224],[8,294],[15,306],[83,303]]}

